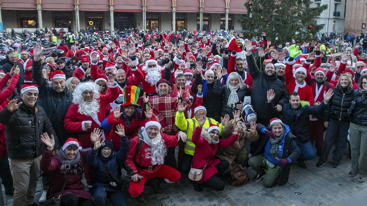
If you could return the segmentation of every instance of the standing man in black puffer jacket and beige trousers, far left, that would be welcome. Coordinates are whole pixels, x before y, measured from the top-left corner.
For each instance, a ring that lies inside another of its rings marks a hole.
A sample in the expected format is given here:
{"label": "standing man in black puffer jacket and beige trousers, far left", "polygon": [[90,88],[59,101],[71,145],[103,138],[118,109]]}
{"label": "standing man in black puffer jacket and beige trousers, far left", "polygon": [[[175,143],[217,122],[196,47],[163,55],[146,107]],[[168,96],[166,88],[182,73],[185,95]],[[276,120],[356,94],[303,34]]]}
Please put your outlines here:
{"label": "standing man in black puffer jacket and beige trousers, far left", "polygon": [[45,150],[41,134],[54,135],[55,149],[60,148],[46,112],[36,105],[37,99],[37,85],[23,85],[19,103],[11,100],[0,112],[0,123],[5,125],[7,152],[14,176],[14,205],[37,206],[34,192],[40,176],[41,155]]}

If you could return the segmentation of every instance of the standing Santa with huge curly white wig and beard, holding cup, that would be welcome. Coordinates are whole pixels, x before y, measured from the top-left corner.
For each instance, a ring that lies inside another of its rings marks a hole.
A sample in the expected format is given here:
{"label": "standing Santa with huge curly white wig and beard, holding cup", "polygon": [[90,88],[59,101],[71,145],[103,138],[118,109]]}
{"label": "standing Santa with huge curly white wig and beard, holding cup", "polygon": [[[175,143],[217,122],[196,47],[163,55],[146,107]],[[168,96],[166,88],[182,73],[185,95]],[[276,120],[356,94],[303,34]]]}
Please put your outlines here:
{"label": "standing Santa with huge curly white wig and beard, holding cup", "polygon": [[[99,86],[94,82],[80,83],[73,93],[73,104],[69,107],[64,119],[64,128],[68,132],[78,133],[82,151],[90,150],[90,132],[101,128],[105,119],[106,106],[119,96],[117,84],[110,76],[108,81],[110,92],[100,95]],[[102,130],[102,139],[110,140],[108,131]],[[86,171],[87,184],[92,185],[91,171]]]}

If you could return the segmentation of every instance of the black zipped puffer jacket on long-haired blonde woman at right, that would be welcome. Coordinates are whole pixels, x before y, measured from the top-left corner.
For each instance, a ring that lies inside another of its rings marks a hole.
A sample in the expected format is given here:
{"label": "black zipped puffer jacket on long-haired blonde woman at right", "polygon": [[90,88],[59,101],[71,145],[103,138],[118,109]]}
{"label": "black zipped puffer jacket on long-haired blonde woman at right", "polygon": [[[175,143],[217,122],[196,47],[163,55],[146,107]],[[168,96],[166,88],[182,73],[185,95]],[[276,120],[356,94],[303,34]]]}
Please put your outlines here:
{"label": "black zipped puffer jacket on long-haired blonde woman at right", "polygon": [[351,115],[348,114],[348,109],[354,98],[353,88],[342,88],[338,85],[333,88],[333,91],[334,95],[323,113],[323,120],[329,121],[330,118],[333,118],[339,121],[350,121]]}

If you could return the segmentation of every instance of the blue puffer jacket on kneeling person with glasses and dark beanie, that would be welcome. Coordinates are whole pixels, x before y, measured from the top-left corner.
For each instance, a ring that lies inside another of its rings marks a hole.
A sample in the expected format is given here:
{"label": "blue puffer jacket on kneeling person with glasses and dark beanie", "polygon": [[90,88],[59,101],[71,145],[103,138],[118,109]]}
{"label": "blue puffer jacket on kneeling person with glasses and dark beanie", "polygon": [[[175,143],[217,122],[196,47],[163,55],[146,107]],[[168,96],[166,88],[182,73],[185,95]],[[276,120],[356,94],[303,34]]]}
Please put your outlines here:
{"label": "blue puffer jacket on kneeling person with glasses and dark beanie", "polygon": [[[118,152],[113,152],[112,157],[107,161],[107,166],[111,173],[115,176],[121,175],[121,163],[126,158],[126,154],[129,151],[129,140],[126,136],[121,137],[120,150]],[[94,183],[93,190],[98,187],[104,187],[105,191],[117,191],[109,187],[107,180],[107,174],[103,162],[98,157],[98,150],[90,150],[87,156],[87,165],[94,171]]]}

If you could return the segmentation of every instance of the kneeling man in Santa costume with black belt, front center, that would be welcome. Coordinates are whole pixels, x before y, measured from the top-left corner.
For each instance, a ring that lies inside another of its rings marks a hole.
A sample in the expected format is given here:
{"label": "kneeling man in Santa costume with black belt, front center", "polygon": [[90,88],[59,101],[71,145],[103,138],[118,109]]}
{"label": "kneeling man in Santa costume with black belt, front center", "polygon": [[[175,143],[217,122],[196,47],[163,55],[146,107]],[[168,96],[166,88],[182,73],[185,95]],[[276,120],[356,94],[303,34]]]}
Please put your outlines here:
{"label": "kneeling man in Santa costume with black belt, front center", "polygon": [[[185,142],[187,137],[183,132],[175,136],[160,132],[161,125],[154,119],[146,122],[145,127],[141,129],[141,136],[137,135],[130,141],[125,167],[131,175],[128,190],[130,195],[138,196],[139,201],[144,201],[142,192],[145,182],[149,179],[164,178],[167,183],[174,183],[181,178],[181,173],[163,163],[167,147],[177,147],[179,140]],[[137,148],[139,141],[143,142],[141,147]]]}

